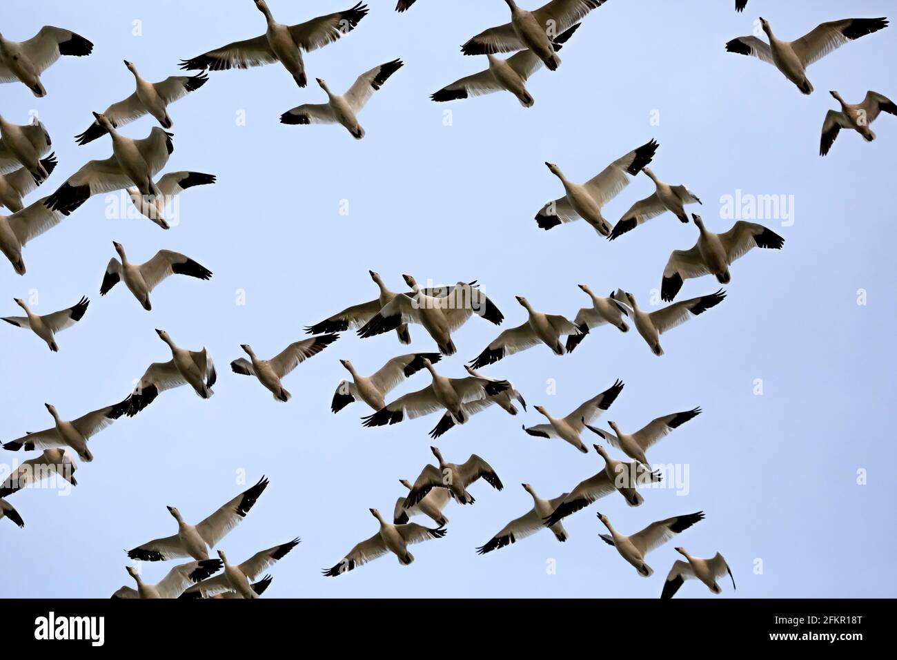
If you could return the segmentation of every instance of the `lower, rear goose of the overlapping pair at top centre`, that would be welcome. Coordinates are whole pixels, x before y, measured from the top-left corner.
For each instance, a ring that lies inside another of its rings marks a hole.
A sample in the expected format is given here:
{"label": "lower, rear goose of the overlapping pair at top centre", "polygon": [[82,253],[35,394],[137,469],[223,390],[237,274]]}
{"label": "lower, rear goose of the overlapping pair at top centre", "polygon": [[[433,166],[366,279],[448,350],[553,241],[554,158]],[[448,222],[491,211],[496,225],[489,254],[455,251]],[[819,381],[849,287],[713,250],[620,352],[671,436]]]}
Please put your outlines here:
{"label": "lower, rear goose of the overlapping pair at top centre", "polygon": [[[554,52],[562,48],[562,44],[573,36],[577,28],[579,23],[552,40]],[[466,99],[468,96],[481,96],[504,90],[514,94],[524,108],[531,108],[536,101],[527,91],[527,80],[530,75],[542,68],[543,62],[539,56],[532,50],[521,50],[507,59],[495,57],[491,53],[487,54],[486,58],[489,60],[489,68],[446,85],[439,92],[432,94],[431,100],[455,101]]]}

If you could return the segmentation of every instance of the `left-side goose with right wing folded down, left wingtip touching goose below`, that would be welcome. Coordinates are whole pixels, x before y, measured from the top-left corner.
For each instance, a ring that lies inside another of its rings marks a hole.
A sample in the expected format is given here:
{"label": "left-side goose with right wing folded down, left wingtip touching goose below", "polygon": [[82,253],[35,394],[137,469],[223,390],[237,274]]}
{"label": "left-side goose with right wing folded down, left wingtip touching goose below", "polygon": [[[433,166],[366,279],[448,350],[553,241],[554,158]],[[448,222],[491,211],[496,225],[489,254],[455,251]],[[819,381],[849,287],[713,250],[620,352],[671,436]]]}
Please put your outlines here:
{"label": "left-side goose with right wing folded down, left wingtip touching goose below", "polygon": [[152,403],[160,392],[171,390],[181,385],[189,385],[200,399],[208,399],[214,392],[212,386],[218,379],[212,356],[203,348],[201,351],[180,348],[165,330],[156,330],[160,339],[171,349],[168,362],[153,362],[144,372],[134,392],[122,403],[122,409],[128,417]]}

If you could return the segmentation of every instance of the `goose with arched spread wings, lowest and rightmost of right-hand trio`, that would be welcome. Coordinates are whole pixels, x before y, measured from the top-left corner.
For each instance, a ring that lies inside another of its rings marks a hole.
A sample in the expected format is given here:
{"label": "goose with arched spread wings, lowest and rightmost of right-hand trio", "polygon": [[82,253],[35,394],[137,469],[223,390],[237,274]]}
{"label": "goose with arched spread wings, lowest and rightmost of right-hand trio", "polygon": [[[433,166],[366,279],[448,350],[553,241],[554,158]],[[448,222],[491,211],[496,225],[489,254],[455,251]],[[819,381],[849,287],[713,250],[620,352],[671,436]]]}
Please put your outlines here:
{"label": "goose with arched spread wings, lowest and rightmost of right-hand trio", "polygon": [[682,288],[685,279],[714,275],[720,284],[728,284],[732,276],[728,267],[752,248],[781,250],[785,239],[762,224],[739,220],[726,233],[713,233],[704,228],[701,216],[692,213],[698,227],[698,242],[690,250],[674,250],[664,268],[660,286],[661,299],[669,302]]}

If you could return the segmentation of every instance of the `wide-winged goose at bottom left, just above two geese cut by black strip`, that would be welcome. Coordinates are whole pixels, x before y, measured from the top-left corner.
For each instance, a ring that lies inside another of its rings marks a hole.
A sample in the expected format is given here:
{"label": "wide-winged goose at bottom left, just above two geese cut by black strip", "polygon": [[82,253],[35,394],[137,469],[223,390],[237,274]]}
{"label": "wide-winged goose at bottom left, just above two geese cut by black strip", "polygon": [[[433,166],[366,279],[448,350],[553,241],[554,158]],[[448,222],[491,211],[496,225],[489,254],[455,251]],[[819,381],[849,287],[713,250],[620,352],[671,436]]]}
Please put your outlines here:
{"label": "wide-winged goose at bottom left, just above two geese cut by black strip", "polygon": [[185,523],[179,510],[174,506],[166,506],[172,517],[178,521],[178,532],[161,539],[147,541],[134,550],[128,550],[127,556],[141,561],[165,561],[178,557],[209,559],[209,549],[214,548],[246,517],[267,486],[268,480],[262,477],[255,486],[247,488],[196,525]]}

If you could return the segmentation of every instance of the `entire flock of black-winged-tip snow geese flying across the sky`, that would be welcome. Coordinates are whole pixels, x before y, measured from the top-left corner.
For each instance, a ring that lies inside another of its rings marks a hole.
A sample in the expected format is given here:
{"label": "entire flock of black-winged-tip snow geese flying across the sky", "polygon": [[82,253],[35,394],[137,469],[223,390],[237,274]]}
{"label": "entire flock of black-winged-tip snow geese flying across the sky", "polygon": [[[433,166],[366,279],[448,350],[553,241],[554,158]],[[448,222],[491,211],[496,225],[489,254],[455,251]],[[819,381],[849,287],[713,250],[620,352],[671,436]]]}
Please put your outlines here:
{"label": "entire flock of black-winged-tip snow geese flying across the sky", "polygon": [[[38,119],[27,125],[16,125],[0,116],[0,204],[11,214],[0,216],[0,250],[16,273],[24,275],[26,272],[22,257],[26,244],[73,214],[87,199],[104,192],[125,189],[143,216],[168,229],[170,225],[164,216],[171,198],[186,189],[215,182],[212,174],[203,172],[169,172],[158,177],[174,149],[174,136],[169,132],[174,123],[170,117],[171,104],[200,90],[209,81],[210,72],[232,68],[280,63],[293,82],[305,88],[308,74],[302,54],[340,40],[356,29],[369,13],[367,5],[359,3],[342,12],[284,25],[274,20],[266,0],[253,2],[265,17],[265,33],[182,60],[181,68],[198,72],[194,75],[173,75],[161,82],[150,83],[138,73],[133,63],[125,61],[127,70],[134,76],[135,91],[103,112],[94,112],[88,128],[75,137],[78,145],[87,145],[108,136],[111,155],[84,164],[54,192],[30,204],[23,199],[57,167],[48,129]],[[579,29],[588,13],[605,0],[552,0],[534,11],[519,7],[514,0],[506,2],[509,22],[479,32],[461,47],[466,56],[485,56],[488,67],[434,92],[432,101],[457,101],[505,91],[516,96],[523,106],[532,106],[535,100],[527,91],[528,77],[543,66],[556,71],[561,66],[558,51]],[[413,4],[414,0],[399,0],[396,11],[405,12]],[[746,0],[737,0],[736,10],[742,11],[745,4]],[[794,41],[779,40],[771,31],[770,23],[762,18],[760,26],[768,42],[755,36],[739,37],[730,40],[726,50],[762,59],[779,69],[800,92],[809,94],[813,92],[813,85],[806,77],[807,66],[849,41],[884,29],[887,21],[884,18],[854,18],[826,22]],[[0,35],[0,83],[21,83],[36,97],[44,97],[48,90],[40,76],[48,67],[62,56],[89,56],[92,49],[91,41],[52,26],[42,28],[30,40],[21,42]],[[511,52],[514,54],[507,59],[498,57],[498,54]],[[359,123],[360,111],[373,92],[379,91],[402,66],[401,59],[374,66],[361,74],[343,94],[332,92],[323,79],[316,78],[327,101],[303,103],[284,112],[280,120],[292,125],[340,124],[352,136],[361,139],[365,131]],[[897,114],[893,102],[878,92],[868,92],[865,100],[858,104],[847,103],[838,92],[832,92],[832,96],[839,101],[840,110],[829,110],[824,119],[820,150],[823,155],[829,152],[841,128],[852,128],[871,141],[875,134],[869,124],[883,111]],[[148,136],[134,139],[120,132],[128,123],[144,115],[152,116],[159,124]],[[349,375],[337,385],[331,409],[338,413],[353,402],[361,401],[370,409],[370,414],[361,418],[363,427],[382,427],[437,415],[438,421],[430,436],[438,438],[453,427],[471,423],[476,413],[493,405],[511,416],[519,414],[517,404],[527,409],[524,397],[513,383],[480,371],[515,353],[544,345],[554,355],[563,356],[572,353],[593,331],[608,325],[623,333],[634,326],[650,351],[655,356],[663,356],[660,335],[710,310],[726,298],[726,292],[719,289],[715,293],[673,302],[684,286],[684,280],[713,276],[718,283],[727,285],[732,277],[730,268],[736,260],[753,248],[780,250],[784,239],[769,227],[745,221],[736,222],[721,233],[710,231],[701,216],[694,213],[690,216],[686,211],[686,207],[701,205],[701,199],[684,185],[671,185],[658,179],[649,169],[658,146],[656,141],[650,140],[617,158],[584,183],[568,179],[559,165],[545,163],[549,172],[560,180],[563,194],[541,208],[535,219],[543,230],[583,220],[609,241],[615,241],[667,212],[682,224],[693,223],[697,241],[688,250],[672,251],[662,271],[660,291],[662,299],[669,303],[666,306],[646,311],[637,304],[635,296],[623,288],[614,288],[609,295],[602,296],[595,294],[590,286],[580,284],[579,288],[588,295],[588,305],[570,319],[562,314],[538,311],[526,297],[517,295],[516,300],[523,308],[517,314],[515,322],[518,324],[501,330],[475,356],[468,354],[472,359],[466,365],[466,375],[448,377],[440,374],[436,365],[442,356],[457,353],[453,333],[474,316],[496,326],[505,320],[494,299],[488,297],[476,282],[458,281],[453,285],[421,288],[410,275],[403,276],[406,290],[392,291],[378,273],[370,271],[370,278],[377,287],[376,291],[371,291],[373,297],[370,300],[351,304],[323,321],[309,325],[305,329],[311,335],[309,338],[294,341],[267,359],[257,356],[248,344],[240,345],[246,356],[234,359],[231,370],[235,374],[255,377],[274,400],[285,402],[291,399],[291,394],[283,380],[302,362],[339,339],[341,333],[355,330],[359,338],[366,339],[395,332],[398,342],[408,345],[414,325],[418,327],[415,332],[429,336],[425,340],[431,342],[433,350],[391,357],[370,375],[360,374],[349,360],[340,360]],[[602,213],[604,207],[640,173],[653,182],[655,191],[648,198],[633,203],[615,223],[610,222]],[[105,270],[100,295],[109,294],[123,282],[147,311],[152,309],[151,292],[162,280],[172,275],[207,280],[213,275],[211,270],[177,251],[158,251],[149,260],[137,263],[128,259],[120,243],[114,242],[113,247],[117,256],[109,261]],[[134,253],[139,254],[139,250]],[[20,298],[15,298],[15,304],[22,308],[24,315],[7,316],[3,320],[30,330],[51,351],[58,351],[58,333],[83,321],[90,301],[83,297],[71,307],[45,315],[32,312]],[[187,386],[201,399],[213,395],[217,374],[208,351],[180,347],[165,330],[155,331],[170,349],[170,356],[163,353],[161,361],[149,365],[125,399],[72,419],[61,417],[53,405],[46,404],[53,418],[52,426],[3,444],[8,451],[42,453],[23,461],[0,486],[0,518],[9,518],[14,524],[23,526],[22,515],[6,497],[53,474],[74,486],[76,463],[73,453],[83,462],[92,461],[91,437],[123,416],[135,417],[161,392]],[[426,372],[429,379],[426,386],[396,397],[391,395],[398,385],[419,372]],[[552,532],[558,541],[567,541],[563,520],[594,504],[597,499],[611,496],[614,491],[628,506],[644,503],[639,488],[662,479],[658,471],[652,470],[647,452],[661,439],[700,415],[701,408],[662,415],[631,432],[623,431],[623,427],[614,421],[608,423],[610,430],[595,426],[597,418],[610,409],[623,387],[618,380],[562,417],[554,417],[543,406],[535,406],[545,422],[530,427],[523,425],[528,436],[562,440],[580,453],[589,453],[588,444],[592,444],[601,464],[595,474],[557,497],[541,497],[530,484],[522,484],[532,497],[532,508],[504,525],[476,549],[478,553],[506,548],[543,529]],[[607,447],[629,460],[615,458]],[[438,447],[431,447],[431,451],[436,459],[434,464],[424,466],[414,482],[400,480],[405,491],[398,497],[391,518],[371,508],[370,514],[377,520],[376,532],[348,550],[334,566],[325,569],[325,576],[343,575],[390,553],[400,564],[408,565],[414,561],[408,550],[410,545],[446,535],[448,518],[443,510],[449,502],[459,506],[473,505],[475,497],[471,488],[481,479],[496,491],[504,488],[497,471],[482,457],[473,454],[465,462],[455,463],[448,462]],[[248,515],[267,485],[268,481],[262,478],[196,524],[187,523],[179,509],[169,506],[170,515],[178,524],[177,532],[138,545],[129,550],[127,556],[139,561],[179,558],[193,561],[172,568],[155,585],[144,582],[139,570],[128,567],[135,588],[122,586],[114,597],[257,598],[271,583],[271,576],[260,576],[283,559],[299,539],[261,550],[239,564],[229,563],[221,549],[215,550],[218,559],[212,559],[210,555],[224,536]],[[437,526],[411,522],[415,515],[425,516]],[[617,531],[607,515],[597,514],[599,524],[606,528],[601,539],[613,546],[640,576],[646,577],[653,573],[646,563],[646,555],[703,517],[703,512],[676,515],[626,535]],[[732,576],[726,560],[719,553],[710,559],[701,559],[682,547],[675,550],[684,560],[673,562],[661,589],[662,597],[671,597],[688,578],[701,581],[710,592],[718,594],[722,590],[718,580]],[[734,578],[732,584],[734,587]]]}

